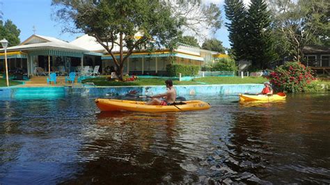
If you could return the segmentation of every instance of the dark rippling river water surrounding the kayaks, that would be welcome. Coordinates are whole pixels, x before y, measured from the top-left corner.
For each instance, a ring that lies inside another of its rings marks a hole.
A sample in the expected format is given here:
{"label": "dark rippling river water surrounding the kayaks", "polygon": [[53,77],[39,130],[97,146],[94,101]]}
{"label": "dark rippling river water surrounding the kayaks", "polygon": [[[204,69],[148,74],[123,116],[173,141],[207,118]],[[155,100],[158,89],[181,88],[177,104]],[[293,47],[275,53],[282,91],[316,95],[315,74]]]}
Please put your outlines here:
{"label": "dark rippling river water surrounding the kayaks", "polygon": [[0,100],[0,184],[330,184],[330,93],[206,111],[100,113],[94,97]]}

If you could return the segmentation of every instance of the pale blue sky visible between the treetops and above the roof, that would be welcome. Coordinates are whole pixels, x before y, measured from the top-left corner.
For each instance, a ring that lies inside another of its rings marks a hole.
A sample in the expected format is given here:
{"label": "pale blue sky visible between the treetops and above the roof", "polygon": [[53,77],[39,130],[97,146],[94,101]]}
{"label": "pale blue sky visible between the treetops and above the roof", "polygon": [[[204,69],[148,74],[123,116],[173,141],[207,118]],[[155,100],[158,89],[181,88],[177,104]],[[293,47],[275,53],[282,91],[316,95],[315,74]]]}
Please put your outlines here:
{"label": "pale blue sky visible between the treetops and above the roof", "polygon": [[[223,0],[202,1],[204,3],[216,3],[219,5],[221,7],[223,22],[226,22],[226,16],[224,15],[223,10]],[[247,3],[249,0],[244,0],[244,2]],[[61,25],[52,19],[54,8],[51,6],[51,0],[0,0],[0,8],[3,13],[3,22],[10,19],[21,31],[21,34],[19,35],[21,42],[33,35],[33,26],[36,35],[49,36],[68,42],[83,35],[83,33],[62,33]],[[210,38],[217,38],[223,42],[224,47],[230,47],[228,31],[224,24],[214,35],[203,30],[201,30],[201,32],[207,33]]]}

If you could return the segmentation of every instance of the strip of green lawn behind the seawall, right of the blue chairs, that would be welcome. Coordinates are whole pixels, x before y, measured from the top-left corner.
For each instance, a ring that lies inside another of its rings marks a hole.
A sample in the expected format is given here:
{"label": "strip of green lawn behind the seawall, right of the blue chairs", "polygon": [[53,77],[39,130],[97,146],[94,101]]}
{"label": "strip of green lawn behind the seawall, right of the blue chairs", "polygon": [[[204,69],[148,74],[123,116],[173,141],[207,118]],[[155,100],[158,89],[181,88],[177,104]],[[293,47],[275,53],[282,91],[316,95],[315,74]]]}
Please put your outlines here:
{"label": "strip of green lawn behind the seawall, right of the blue chairs", "polygon": [[[104,77],[86,79],[83,82],[93,82],[96,86],[164,86],[165,79],[143,79],[137,81],[107,81]],[[201,85],[201,84],[242,84],[263,83],[267,79],[263,77],[204,77],[192,81],[173,80],[173,85]]]}

